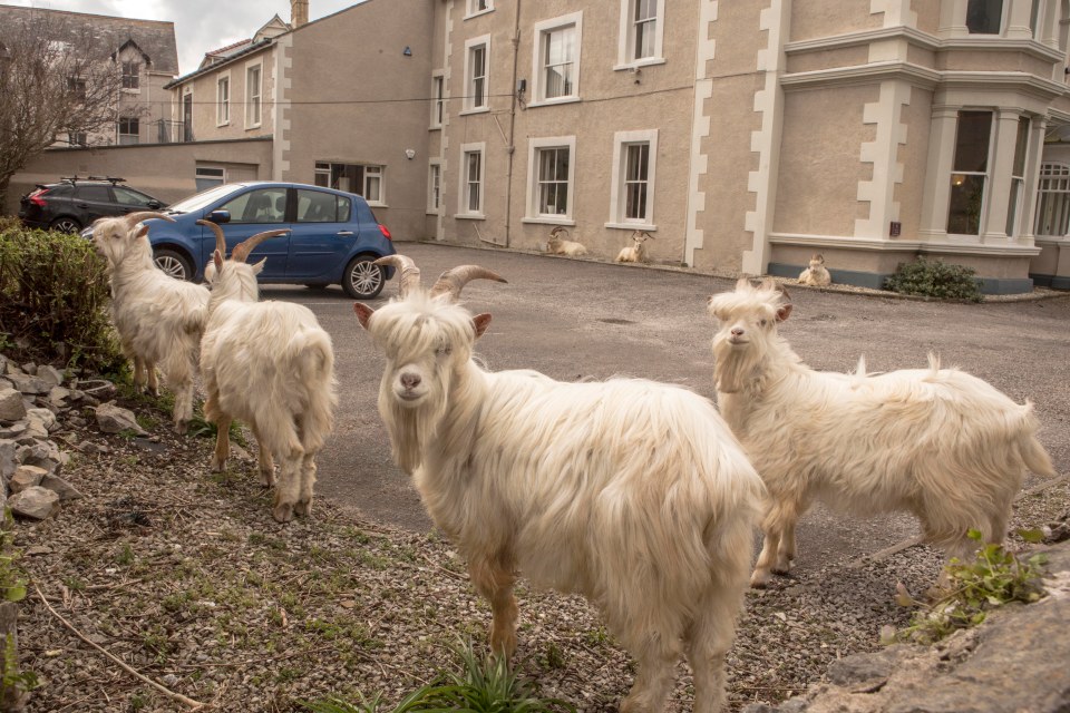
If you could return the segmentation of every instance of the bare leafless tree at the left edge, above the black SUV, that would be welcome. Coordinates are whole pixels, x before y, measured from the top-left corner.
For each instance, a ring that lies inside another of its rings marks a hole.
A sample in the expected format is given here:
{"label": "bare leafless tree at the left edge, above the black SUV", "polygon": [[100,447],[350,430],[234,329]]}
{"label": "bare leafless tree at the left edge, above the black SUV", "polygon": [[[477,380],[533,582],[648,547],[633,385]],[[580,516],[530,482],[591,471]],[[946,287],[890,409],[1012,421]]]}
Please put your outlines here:
{"label": "bare leafless tree at the left edge, above the black SUV", "polygon": [[0,211],[11,176],[58,137],[114,126],[121,74],[113,50],[48,12],[0,26]]}

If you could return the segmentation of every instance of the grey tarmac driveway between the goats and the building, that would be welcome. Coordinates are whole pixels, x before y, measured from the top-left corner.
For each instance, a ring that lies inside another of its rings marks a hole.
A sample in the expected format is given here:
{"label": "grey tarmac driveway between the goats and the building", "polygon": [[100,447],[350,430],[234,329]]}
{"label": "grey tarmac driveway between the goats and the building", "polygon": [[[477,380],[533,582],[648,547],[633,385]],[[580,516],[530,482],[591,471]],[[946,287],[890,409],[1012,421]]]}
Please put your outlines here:
{"label": "grey tarmac driveway between the goats and the building", "polygon": [[[710,294],[733,282],[683,271],[546,255],[399,243],[425,284],[449,267],[476,263],[508,284],[469,283],[464,301],[490,312],[478,352],[492,370],[535,369],[555,379],[614,374],[679,383],[713,397]],[[378,307],[397,293],[388,283]],[[1041,441],[1057,470],[1070,471],[1070,295],[1039,301],[944,304],[858,293],[790,289],[795,310],[781,334],[815,369],[920,368],[935,352],[990,381],[1012,399],[1031,399]],[[334,341],[340,406],[334,434],[319,459],[320,497],[369,519],[414,530],[430,521],[408,478],[390,459],[376,401],[383,362],[339,287],[265,287],[264,299],[311,307]],[[1035,477],[1027,482],[1034,485]],[[857,521],[815,508],[800,524],[800,565],[856,557],[916,534],[909,517]]]}

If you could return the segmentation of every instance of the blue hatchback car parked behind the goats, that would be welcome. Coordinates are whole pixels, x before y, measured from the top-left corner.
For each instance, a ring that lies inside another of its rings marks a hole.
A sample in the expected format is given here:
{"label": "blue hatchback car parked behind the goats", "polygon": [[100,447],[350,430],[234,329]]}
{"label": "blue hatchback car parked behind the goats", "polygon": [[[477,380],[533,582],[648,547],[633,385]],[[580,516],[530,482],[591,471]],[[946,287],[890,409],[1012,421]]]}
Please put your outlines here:
{"label": "blue hatchback car parked behind the goats", "polygon": [[268,258],[262,283],[341,284],[354,300],[370,300],[393,274],[392,267],[372,264],[396,253],[390,232],[352,193],[300,183],[233,183],[179,201],[164,213],[175,222],[147,221],[148,237],[157,266],[181,280],[201,280],[215,250],[215,235],[198,219],[223,228],[227,253],[256,233],[289,229],[250,255],[250,263]]}

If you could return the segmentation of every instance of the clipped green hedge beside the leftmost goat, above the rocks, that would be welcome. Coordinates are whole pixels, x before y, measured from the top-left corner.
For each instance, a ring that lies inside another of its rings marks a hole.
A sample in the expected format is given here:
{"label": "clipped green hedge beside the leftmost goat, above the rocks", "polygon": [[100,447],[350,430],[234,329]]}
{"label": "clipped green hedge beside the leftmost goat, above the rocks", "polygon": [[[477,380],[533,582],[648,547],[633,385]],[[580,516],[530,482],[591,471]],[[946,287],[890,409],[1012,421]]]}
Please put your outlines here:
{"label": "clipped green hedge beside the leftmost goat, above the rocks", "polygon": [[0,346],[8,355],[119,371],[108,292],[89,241],[0,222]]}

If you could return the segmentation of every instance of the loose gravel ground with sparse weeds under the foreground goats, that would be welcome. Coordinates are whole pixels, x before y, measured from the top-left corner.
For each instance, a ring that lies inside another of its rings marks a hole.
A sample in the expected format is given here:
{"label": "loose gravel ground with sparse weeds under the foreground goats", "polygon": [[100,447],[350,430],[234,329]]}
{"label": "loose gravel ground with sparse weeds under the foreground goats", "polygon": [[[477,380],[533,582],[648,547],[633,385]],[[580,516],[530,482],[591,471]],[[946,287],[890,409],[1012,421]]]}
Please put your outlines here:
{"label": "loose gravel ground with sparse weeds under the foreground goats", "polygon": [[[167,422],[145,402],[124,406]],[[226,473],[212,475],[211,440],[155,432],[54,434],[71,445],[64,476],[86,497],[18,525],[31,580],[20,663],[41,682],[28,711],[188,710],[78,638],[35,587],[86,638],[218,711],[299,711],[301,701],[358,690],[397,702],[454,668],[458,641],[485,647],[489,608],[438,534],[385,527],[323,500],[311,518],[279,525],[252,459],[233,458]],[[1013,525],[1038,527],[1068,502],[1066,482],[1025,497]],[[805,541],[800,548],[805,559]],[[934,550],[911,547],[879,561],[802,566],[749,592],[728,664],[730,710],[782,701],[835,658],[876,649],[883,625],[909,621],[893,602],[896,583],[921,593],[940,565]],[[543,695],[615,711],[634,666],[596,613],[523,580],[517,595],[519,671]],[[679,674],[670,711],[691,709],[682,663]]]}

